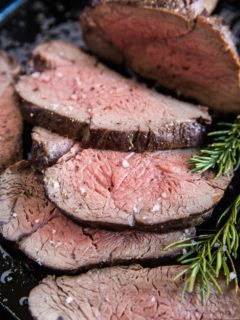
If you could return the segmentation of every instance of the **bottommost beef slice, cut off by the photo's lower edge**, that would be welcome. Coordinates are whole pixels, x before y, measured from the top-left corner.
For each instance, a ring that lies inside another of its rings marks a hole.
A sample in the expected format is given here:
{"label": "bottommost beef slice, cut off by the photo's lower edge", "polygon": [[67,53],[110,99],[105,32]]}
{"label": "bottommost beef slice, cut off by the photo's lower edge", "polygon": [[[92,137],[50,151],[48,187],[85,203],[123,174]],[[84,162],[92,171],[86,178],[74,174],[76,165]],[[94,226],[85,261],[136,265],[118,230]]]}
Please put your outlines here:
{"label": "bottommost beef slice, cut off by the photo's lower edge", "polygon": [[36,320],[239,319],[239,293],[221,281],[223,294],[211,288],[206,305],[199,291],[181,299],[184,279],[173,277],[180,266],[154,269],[140,266],[91,270],[79,276],[49,276],[29,296]]}

